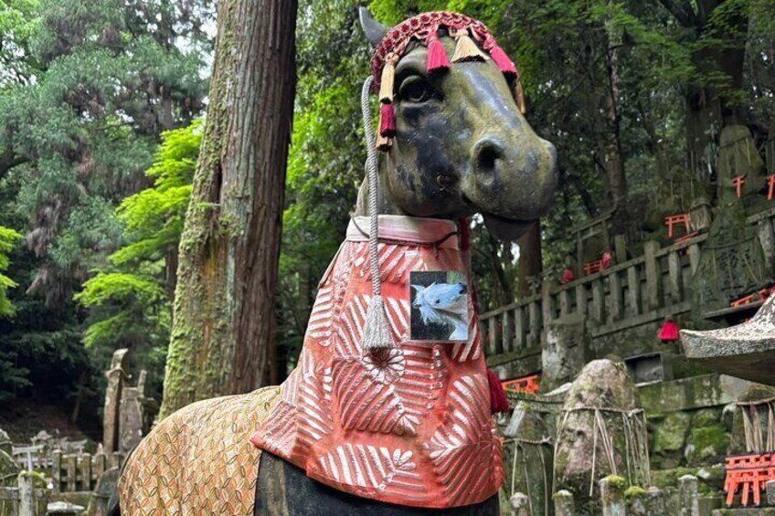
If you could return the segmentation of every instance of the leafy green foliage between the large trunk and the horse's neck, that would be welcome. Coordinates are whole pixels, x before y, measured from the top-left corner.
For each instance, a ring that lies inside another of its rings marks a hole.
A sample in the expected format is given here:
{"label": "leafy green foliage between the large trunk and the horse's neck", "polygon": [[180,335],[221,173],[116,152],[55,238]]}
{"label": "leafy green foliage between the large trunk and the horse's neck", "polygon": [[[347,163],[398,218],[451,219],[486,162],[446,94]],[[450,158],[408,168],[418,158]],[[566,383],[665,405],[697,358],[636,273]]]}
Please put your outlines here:
{"label": "leafy green foliage between the large trunk and the horse's neck", "polygon": [[303,0],[299,14],[278,289],[279,356],[290,363],[301,347],[317,282],[345,234],[366,160],[357,99],[368,50],[356,5]]}

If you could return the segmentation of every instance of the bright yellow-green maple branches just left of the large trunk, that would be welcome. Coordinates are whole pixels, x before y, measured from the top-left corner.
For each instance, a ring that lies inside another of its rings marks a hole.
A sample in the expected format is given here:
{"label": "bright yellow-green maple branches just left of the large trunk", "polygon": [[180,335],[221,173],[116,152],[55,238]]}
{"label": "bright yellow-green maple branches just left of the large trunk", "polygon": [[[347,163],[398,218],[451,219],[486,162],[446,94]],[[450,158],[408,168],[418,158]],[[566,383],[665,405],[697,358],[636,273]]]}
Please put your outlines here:
{"label": "bright yellow-green maple branches just left of the large trunk", "polygon": [[123,245],[75,295],[90,309],[86,346],[133,348],[136,363],[150,369],[153,384],[163,374],[175,257],[201,140],[200,120],[162,133],[162,144],[145,172],[152,184],[116,208]]}

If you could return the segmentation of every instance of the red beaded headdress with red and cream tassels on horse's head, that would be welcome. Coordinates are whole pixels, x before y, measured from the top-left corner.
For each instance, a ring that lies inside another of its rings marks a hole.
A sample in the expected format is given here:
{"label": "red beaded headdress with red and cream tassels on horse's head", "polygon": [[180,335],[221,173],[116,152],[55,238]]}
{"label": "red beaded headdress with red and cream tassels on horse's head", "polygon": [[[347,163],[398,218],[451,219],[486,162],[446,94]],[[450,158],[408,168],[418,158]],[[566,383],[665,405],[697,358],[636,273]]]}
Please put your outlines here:
{"label": "red beaded headdress with red and cream tassels on horse's head", "polygon": [[[470,16],[447,11],[422,13],[409,18],[387,31],[379,45],[374,48],[371,58],[371,74],[374,77],[372,91],[379,92],[381,103],[377,146],[382,150],[390,147],[390,139],[396,134],[393,79],[396,63],[403,56],[409,43],[414,40],[428,47],[426,69],[429,73],[437,73],[451,66],[450,59],[447,58],[439,39],[441,28],[446,28],[448,34],[457,40],[451,62],[492,58],[508,79],[519,79],[519,72],[514,62],[506,56],[503,48],[498,47],[495,38],[482,22]],[[521,102],[518,83],[517,80],[515,96],[517,101]]]}

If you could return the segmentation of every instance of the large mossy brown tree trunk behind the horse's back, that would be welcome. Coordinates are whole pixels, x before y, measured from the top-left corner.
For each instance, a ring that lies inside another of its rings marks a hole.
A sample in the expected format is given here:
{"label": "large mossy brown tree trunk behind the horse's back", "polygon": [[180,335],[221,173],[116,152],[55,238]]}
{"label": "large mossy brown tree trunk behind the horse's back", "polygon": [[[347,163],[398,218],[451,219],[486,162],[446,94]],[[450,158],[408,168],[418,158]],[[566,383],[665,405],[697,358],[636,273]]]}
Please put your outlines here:
{"label": "large mossy brown tree trunk behind the horse's back", "polygon": [[162,415],[260,384],[274,331],[296,0],[222,0]]}

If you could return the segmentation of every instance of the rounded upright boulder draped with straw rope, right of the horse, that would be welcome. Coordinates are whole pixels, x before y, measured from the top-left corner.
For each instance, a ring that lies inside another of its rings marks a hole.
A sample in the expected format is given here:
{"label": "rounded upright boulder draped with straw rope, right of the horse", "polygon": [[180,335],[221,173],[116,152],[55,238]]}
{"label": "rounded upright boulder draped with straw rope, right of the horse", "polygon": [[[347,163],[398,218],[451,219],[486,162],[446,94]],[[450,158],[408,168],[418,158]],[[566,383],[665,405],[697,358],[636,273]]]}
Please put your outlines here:
{"label": "rounded upright boulder draped with straw rope, right of the horse", "polygon": [[[605,459],[600,430],[598,438],[595,438],[595,411],[589,410],[594,407],[614,409],[612,412],[600,411],[611,439],[614,469]],[[592,361],[581,370],[570,387],[563,405],[564,415],[558,419],[555,470],[557,488],[575,493],[578,511],[582,511],[582,506],[599,501],[596,500],[599,498],[597,490],[589,498],[590,481],[597,484],[598,479],[607,475],[626,474],[626,446],[619,411],[631,411],[635,407],[635,387],[621,362]],[[596,462],[594,479],[591,478],[593,457]]]}

